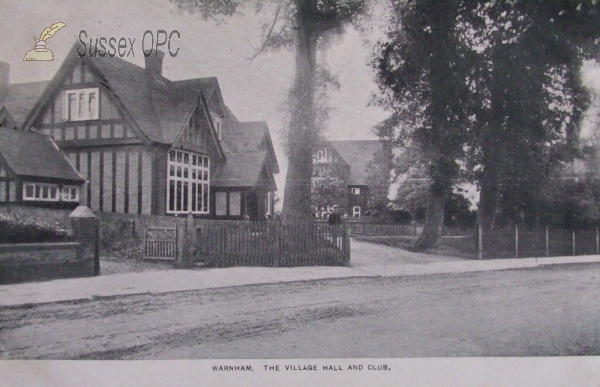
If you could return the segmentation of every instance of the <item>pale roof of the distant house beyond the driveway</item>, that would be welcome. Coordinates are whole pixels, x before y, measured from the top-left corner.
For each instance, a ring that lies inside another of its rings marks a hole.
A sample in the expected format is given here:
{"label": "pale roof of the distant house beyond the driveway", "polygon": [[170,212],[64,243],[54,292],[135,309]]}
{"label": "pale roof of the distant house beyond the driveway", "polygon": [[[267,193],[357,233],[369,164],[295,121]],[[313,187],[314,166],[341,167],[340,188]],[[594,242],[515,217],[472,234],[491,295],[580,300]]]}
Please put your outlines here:
{"label": "pale roof of the distant house beyond the driveway", "polygon": [[329,141],[350,166],[348,185],[366,185],[367,166],[376,152],[382,149],[379,140]]}

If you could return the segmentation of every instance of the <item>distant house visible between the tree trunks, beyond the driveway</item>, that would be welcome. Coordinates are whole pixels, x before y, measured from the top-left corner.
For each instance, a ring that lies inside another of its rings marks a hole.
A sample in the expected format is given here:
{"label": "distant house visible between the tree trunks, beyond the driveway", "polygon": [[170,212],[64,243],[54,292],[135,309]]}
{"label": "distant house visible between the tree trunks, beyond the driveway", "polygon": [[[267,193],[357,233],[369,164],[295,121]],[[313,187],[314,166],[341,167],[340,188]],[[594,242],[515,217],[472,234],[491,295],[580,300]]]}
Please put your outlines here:
{"label": "distant house visible between the tree trunks, beyond the driveway", "polygon": [[331,206],[341,206],[349,217],[365,215],[369,186],[368,165],[382,149],[378,140],[328,141],[313,154],[313,186],[319,180],[334,177],[343,181],[343,203],[319,203],[316,218],[326,218]]}

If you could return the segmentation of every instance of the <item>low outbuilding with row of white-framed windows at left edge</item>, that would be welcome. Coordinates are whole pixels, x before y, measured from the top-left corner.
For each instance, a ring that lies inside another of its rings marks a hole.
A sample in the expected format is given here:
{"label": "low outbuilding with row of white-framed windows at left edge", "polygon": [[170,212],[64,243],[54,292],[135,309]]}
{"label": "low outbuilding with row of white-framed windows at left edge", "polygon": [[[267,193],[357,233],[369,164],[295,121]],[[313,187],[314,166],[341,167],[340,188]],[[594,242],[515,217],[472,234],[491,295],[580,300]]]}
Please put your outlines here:
{"label": "low outbuilding with row of white-framed windows at left edge", "polygon": [[83,183],[50,137],[0,128],[0,205],[75,208]]}

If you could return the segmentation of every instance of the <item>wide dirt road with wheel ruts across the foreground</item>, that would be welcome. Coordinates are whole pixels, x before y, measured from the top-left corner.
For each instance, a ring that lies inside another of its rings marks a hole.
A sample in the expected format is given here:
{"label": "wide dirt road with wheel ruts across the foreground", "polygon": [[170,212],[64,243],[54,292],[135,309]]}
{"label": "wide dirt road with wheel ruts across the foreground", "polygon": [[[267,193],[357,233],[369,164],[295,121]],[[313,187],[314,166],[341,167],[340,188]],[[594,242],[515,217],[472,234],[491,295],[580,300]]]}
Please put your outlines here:
{"label": "wide dirt road with wheel ruts across the foreground", "polygon": [[600,355],[600,264],[0,309],[0,357]]}

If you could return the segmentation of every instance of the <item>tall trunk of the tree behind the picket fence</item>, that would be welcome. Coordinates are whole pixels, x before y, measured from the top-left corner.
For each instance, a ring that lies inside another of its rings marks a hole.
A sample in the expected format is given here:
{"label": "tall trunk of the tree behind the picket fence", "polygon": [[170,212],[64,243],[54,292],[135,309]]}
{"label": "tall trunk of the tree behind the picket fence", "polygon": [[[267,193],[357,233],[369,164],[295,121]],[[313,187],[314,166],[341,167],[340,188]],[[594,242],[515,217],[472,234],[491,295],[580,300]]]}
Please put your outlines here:
{"label": "tall trunk of the tree behind the picket fence", "polygon": [[296,77],[290,93],[289,166],[285,181],[284,223],[311,219],[312,151],[316,139],[314,109],[317,32],[310,18],[298,15]]}

